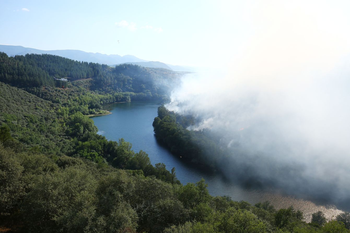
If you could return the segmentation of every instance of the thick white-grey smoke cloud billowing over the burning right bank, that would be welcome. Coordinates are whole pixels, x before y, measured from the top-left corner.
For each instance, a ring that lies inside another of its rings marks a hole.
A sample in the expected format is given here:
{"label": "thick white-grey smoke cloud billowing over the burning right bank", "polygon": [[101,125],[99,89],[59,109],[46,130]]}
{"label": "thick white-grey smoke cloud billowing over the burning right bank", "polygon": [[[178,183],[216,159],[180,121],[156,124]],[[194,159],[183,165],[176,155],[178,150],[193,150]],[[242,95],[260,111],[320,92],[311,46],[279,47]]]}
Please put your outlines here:
{"label": "thick white-grey smoke cloud billowing over the burning right bank", "polygon": [[219,135],[228,177],[346,202],[350,23],[339,4],[303,4],[251,9],[243,48],[225,51],[233,58],[221,69],[184,76],[166,107]]}

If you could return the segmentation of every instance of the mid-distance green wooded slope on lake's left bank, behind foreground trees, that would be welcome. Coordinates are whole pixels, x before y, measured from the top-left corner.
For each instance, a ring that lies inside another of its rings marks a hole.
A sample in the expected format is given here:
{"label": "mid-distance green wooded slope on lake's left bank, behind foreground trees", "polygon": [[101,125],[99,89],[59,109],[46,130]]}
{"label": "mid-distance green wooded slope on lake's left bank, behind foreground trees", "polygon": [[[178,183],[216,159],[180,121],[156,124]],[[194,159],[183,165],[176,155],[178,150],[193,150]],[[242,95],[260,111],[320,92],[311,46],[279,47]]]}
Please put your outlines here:
{"label": "mid-distance green wooded slope on lake's left bank, behind foreground trees", "polygon": [[[72,95],[79,100],[80,96]],[[89,96],[83,96],[89,100]],[[81,98],[80,98],[81,99]],[[114,167],[139,170],[139,174],[155,176],[164,181],[179,183],[165,165],[155,167],[144,151],[135,153],[131,144],[120,139],[108,141],[98,135],[93,120],[83,115],[72,103],[52,103],[33,94],[0,83],[0,141],[15,151],[33,151],[50,156],[82,157],[96,163],[110,163]],[[86,107],[87,108],[87,107]]]}

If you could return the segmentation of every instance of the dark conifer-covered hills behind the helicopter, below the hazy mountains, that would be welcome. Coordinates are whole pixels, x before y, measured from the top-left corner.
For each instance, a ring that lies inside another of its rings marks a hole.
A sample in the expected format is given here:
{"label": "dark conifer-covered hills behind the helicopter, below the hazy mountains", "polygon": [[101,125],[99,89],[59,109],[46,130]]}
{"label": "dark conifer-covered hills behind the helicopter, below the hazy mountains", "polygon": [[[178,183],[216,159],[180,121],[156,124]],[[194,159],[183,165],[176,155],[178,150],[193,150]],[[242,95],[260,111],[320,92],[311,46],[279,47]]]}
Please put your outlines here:
{"label": "dark conifer-covered hills behind the helicopter, below the hazy mountains", "polygon": [[[115,68],[104,64],[73,61],[49,54],[8,57],[0,52],[0,82],[30,91],[42,87],[66,87],[70,82],[53,77],[70,77],[74,82],[91,79],[87,88],[112,96],[128,92],[135,100],[162,99],[179,80],[171,71],[121,64]],[[126,97],[125,97],[126,98]]]}

